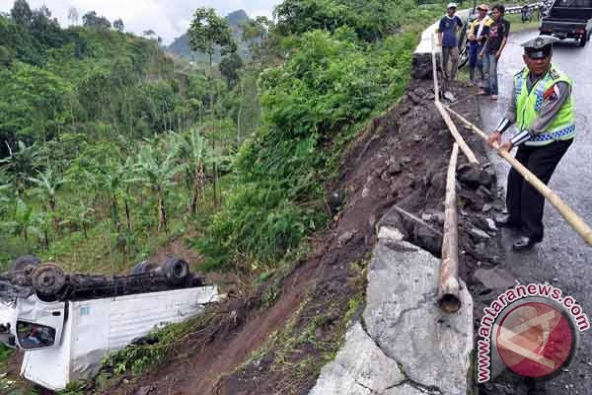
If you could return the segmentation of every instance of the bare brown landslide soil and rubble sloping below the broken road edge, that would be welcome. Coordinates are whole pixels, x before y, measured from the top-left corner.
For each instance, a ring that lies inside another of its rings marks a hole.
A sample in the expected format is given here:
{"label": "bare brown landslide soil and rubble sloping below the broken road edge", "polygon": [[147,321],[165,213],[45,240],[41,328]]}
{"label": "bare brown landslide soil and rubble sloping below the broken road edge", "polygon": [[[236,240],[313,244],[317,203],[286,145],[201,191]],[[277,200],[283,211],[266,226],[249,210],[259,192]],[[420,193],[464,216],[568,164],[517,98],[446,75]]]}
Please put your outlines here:
{"label": "bare brown landslide soil and rubble sloping below the broken road edge", "polygon": [[[450,90],[457,99],[455,110],[477,121],[472,89],[455,85]],[[329,188],[345,196],[342,209],[329,229],[311,239],[312,252],[291,272],[272,279],[253,296],[231,297],[168,361],[139,381],[121,381],[104,393],[308,393],[320,367],[339,348],[349,319],[363,307],[356,302],[363,300],[366,264],[386,211],[397,205],[442,229],[453,139],[433,99],[431,82],[413,81],[398,104],[363,130],[346,156],[340,179]],[[458,129],[462,133],[462,127]],[[487,162],[478,137],[462,134],[481,163]],[[461,277],[474,288],[470,274],[475,267],[499,259],[498,238],[491,234],[481,242],[468,230],[482,228],[484,204],[491,204],[493,211],[503,205],[492,172],[464,162],[459,155],[459,258]],[[334,200],[328,199],[330,205]],[[429,227],[407,216],[397,225],[408,240],[439,255],[442,239],[437,231],[430,233]],[[268,307],[270,301],[274,303]]]}

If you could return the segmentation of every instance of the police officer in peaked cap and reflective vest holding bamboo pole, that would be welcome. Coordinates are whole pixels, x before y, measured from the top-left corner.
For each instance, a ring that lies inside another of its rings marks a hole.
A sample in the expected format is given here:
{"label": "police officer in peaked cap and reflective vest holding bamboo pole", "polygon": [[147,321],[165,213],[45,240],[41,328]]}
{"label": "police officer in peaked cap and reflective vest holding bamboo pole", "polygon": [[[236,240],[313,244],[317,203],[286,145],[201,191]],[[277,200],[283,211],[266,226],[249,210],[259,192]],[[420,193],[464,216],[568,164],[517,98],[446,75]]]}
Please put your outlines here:
{"label": "police officer in peaked cap and reflective vest holding bamboo pole", "polygon": [[[500,143],[504,131],[516,124],[517,133],[500,149],[509,152],[517,147],[516,159],[545,184],[575,137],[573,83],[551,63],[555,41],[558,38],[539,36],[522,44],[526,67],[514,75],[510,107],[489,139],[490,145]],[[532,248],[543,238],[545,199],[513,168],[506,205],[509,215],[497,222],[522,232],[513,249]]]}

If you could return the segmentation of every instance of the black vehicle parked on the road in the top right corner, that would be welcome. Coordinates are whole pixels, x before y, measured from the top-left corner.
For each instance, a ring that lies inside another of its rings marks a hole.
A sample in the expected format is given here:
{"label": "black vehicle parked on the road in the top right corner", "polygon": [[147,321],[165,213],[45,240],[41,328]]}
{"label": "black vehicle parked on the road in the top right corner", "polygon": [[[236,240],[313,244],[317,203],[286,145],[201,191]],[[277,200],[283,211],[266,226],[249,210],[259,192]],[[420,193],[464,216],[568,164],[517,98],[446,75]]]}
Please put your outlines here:
{"label": "black vehicle parked on the road in the top right corner", "polygon": [[592,0],[555,0],[540,22],[540,34],[576,40],[584,47],[592,33]]}

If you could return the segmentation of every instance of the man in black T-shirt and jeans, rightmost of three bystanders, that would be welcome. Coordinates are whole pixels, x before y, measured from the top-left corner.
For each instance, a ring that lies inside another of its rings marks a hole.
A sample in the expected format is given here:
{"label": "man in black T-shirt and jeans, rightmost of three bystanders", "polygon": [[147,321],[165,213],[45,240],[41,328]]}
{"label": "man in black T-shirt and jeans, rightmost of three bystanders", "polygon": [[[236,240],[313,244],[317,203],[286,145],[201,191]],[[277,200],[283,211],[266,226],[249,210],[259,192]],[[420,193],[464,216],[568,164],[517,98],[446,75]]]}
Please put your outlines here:
{"label": "man in black T-shirt and jeans, rightmost of three bystanders", "polygon": [[[506,47],[506,42],[510,34],[510,23],[503,17],[506,8],[501,4],[496,4],[491,8],[491,17],[493,23],[489,27],[489,37],[485,41],[484,48],[479,54],[480,59],[484,59],[485,73],[487,73],[487,85],[491,100],[497,100],[498,82],[497,82],[497,62],[500,60],[501,53]],[[480,89],[480,95],[487,92]]]}

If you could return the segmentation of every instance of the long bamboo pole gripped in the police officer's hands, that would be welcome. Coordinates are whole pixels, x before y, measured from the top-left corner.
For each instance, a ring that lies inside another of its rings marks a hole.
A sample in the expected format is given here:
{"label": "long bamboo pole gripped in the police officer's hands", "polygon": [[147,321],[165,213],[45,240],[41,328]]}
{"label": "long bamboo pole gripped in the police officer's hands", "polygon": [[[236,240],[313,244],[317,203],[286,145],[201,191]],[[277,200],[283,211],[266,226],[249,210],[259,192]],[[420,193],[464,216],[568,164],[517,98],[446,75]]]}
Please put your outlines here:
{"label": "long bamboo pole gripped in the police officer's hands", "polygon": [[[477,126],[473,125],[460,114],[456,113],[456,111],[452,110],[452,108],[447,107],[446,110],[456,115],[456,117],[465,123],[466,126],[470,126],[471,130],[481,136],[484,140],[489,139],[487,134],[483,133],[480,129],[478,129]],[[543,184],[543,182],[540,181],[537,176],[532,174],[529,169],[525,168],[522,163],[518,162],[518,160],[511,156],[509,152],[500,150],[499,144],[494,144],[494,149],[497,150],[497,153],[500,156],[510,162],[510,165],[512,165],[514,169],[516,169],[516,171],[518,171],[524,177],[524,179],[530,183],[530,185],[535,187],[536,190],[539,191],[540,194],[542,194],[545,199],[557,209],[557,211],[559,211],[559,214],[564,217],[567,223],[570,224],[572,228],[574,228],[575,232],[577,232],[578,235],[580,235],[585,240],[585,242],[588,243],[588,245],[592,246],[592,229],[590,229],[584,220],[581,219],[581,217],[578,216],[578,214],[576,214],[575,211],[567,205],[567,203],[565,203],[557,194],[555,194],[551,188]]]}

